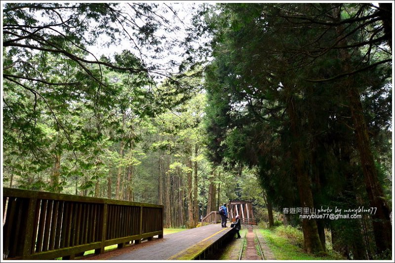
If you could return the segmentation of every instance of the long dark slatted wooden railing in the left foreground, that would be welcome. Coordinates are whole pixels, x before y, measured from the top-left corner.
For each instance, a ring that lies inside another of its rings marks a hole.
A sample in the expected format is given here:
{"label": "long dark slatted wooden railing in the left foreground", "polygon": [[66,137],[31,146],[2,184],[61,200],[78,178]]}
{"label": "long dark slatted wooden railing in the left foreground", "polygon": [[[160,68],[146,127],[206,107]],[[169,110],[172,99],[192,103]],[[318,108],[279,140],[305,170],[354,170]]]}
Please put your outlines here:
{"label": "long dark slatted wooden railing in the left foreground", "polygon": [[163,205],[3,188],[3,260],[73,259],[158,235]]}

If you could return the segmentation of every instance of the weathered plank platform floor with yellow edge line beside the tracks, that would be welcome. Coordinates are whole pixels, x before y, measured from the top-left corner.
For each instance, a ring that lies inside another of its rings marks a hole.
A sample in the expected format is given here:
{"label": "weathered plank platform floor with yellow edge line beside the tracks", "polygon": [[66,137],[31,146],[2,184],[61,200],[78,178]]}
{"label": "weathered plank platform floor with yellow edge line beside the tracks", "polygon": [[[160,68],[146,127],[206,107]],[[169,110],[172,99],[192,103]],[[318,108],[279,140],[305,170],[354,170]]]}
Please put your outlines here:
{"label": "weathered plank platform floor with yellow edge line beside the tracks", "polygon": [[104,253],[100,258],[94,256],[86,260],[103,259],[103,256],[111,261],[204,259],[205,254],[233,236],[233,228],[211,224],[164,235],[161,239],[138,244],[131,251],[129,248],[132,246]]}

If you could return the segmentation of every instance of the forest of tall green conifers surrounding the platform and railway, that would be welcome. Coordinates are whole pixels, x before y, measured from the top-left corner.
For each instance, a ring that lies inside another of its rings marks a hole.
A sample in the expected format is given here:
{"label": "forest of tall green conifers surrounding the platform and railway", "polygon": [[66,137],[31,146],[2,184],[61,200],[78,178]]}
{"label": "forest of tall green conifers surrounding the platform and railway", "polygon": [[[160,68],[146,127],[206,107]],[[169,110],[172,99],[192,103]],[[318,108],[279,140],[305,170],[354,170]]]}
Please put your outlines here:
{"label": "forest of tall green conifers surrounding the platform and railway", "polygon": [[[392,3],[4,3],[2,186],[229,200],[307,253],[391,259]],[[375,208],[303,219],[290,208]]]}

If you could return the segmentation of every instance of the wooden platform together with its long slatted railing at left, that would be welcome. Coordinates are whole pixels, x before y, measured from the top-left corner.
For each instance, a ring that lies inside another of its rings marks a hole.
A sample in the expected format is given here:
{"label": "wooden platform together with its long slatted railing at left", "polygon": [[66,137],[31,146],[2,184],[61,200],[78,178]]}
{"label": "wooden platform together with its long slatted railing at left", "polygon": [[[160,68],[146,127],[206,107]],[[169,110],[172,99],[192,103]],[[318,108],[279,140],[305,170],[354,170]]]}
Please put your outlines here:
{"label": "wooden platform together with its long slatted railing at left", "polygon": [[204,259],[235,235],[234,228],[210,224],[163,237],[158,204],[14,188],[3,188],[2,198],[3,260],[74,259],[114,244],[122,255],[109,252],[106,259]]}

